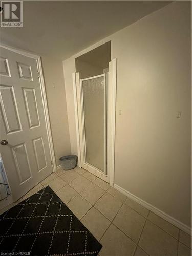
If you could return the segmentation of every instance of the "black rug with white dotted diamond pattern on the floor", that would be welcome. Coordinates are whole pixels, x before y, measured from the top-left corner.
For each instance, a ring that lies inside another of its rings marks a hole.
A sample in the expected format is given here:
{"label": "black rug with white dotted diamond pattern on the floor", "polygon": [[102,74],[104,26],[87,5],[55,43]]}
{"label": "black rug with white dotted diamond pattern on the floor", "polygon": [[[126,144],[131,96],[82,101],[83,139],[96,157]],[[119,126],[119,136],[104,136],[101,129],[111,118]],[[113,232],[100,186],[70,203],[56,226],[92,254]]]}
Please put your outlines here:
{"label": "black rug with white dotted diamond pattern on the floor", "polygon": [[98,255],[101,248],[49,186],[0,216],[1,255]]}

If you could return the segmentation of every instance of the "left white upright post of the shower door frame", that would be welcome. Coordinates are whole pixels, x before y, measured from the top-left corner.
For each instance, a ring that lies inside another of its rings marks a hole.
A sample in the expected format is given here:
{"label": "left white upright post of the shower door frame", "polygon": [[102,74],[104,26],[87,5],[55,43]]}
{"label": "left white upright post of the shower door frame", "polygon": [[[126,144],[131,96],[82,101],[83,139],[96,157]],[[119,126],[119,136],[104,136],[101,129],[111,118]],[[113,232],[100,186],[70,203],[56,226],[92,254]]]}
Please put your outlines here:
{"label": "left white upright post of the shower door frame", "polygon": [[77,163],[77,165],[81,168],[79,121],[78,121],[77,91],[76,91],[76,82],[77,82],[77,80],[79,80],[79,73],[73,73],[72,75],[73,75],[73,97],[74,97],[74,105],[75,105],[75,125],[76,125],[76,136],[77,136],[77,154],[78,154],[78,163]]}

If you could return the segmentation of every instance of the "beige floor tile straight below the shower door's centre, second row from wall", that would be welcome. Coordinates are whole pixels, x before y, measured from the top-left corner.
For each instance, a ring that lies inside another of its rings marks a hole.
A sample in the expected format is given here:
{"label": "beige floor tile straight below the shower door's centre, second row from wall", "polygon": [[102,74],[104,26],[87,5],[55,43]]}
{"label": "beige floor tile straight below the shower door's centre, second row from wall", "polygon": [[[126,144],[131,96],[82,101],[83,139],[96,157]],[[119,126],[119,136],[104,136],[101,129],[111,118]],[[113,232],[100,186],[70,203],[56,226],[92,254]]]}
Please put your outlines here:
{"label": "beige floor tile straight below the shower door's centre, second row from wall", "polygon": [[91,183],[88,187],[81,191],[80,195],[93,205],[104,193],[105,191],[102,188],[98,187],[94,183]]}

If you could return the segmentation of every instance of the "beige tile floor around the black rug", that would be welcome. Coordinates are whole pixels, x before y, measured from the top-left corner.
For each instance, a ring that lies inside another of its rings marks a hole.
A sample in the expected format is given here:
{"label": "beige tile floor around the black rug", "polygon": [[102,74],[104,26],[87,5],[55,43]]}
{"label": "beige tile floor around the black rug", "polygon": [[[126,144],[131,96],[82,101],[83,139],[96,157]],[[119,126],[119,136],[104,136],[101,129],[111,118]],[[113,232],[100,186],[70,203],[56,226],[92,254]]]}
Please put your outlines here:
{"label": "beige tile floor around the black rug", "polygon": [[100,256],[191,255],[191,236],[79,167],[59,169],[16,203],[48,185],[103,245]]}

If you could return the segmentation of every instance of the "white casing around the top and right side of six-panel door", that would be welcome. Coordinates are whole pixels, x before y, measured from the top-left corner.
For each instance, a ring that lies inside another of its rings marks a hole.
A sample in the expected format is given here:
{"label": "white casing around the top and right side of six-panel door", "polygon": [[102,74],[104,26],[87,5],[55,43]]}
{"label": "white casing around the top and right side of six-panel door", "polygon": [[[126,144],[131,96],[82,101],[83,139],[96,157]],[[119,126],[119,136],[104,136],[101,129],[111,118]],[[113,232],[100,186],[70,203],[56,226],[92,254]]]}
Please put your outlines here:
{"label": "white casing around the top and right side of six-panel door", "polygon": [[[0,44],[2,48],[5,48],[7,50],[10,50],[12,52],[24,55],[29,58],[33,58],[36,60],[37,63],[37,72],[39,77],[39,84],[40,84],[40,90],[41,90],[41,96],[42,96],[42,104],[44,106],[44,114],[45,114],[45,120],[46,120],[46,130],[47,130],[47,136],[48,136],[48,142],[49,142],[49,150],[51,155],[51,161],[52,161],[52,168],[53,172],[56,172],[56,162],[55,162],[55,154],[54,154],[54,148],[53,148],[53,140],[51,135],[51,126],[50,126],[50,120],[49,120],[49,112],[48,112],[48,105],[47,105],[47,98],[46,98],[46,90],[45,90],[45,82],[44,82],[44,75],[42,72],[42,65],[41,65],[41,57],[39,55],[16,49],[10,46],[6,46],[3,44]],[[3,159],[2,159],[3,161]]]}

